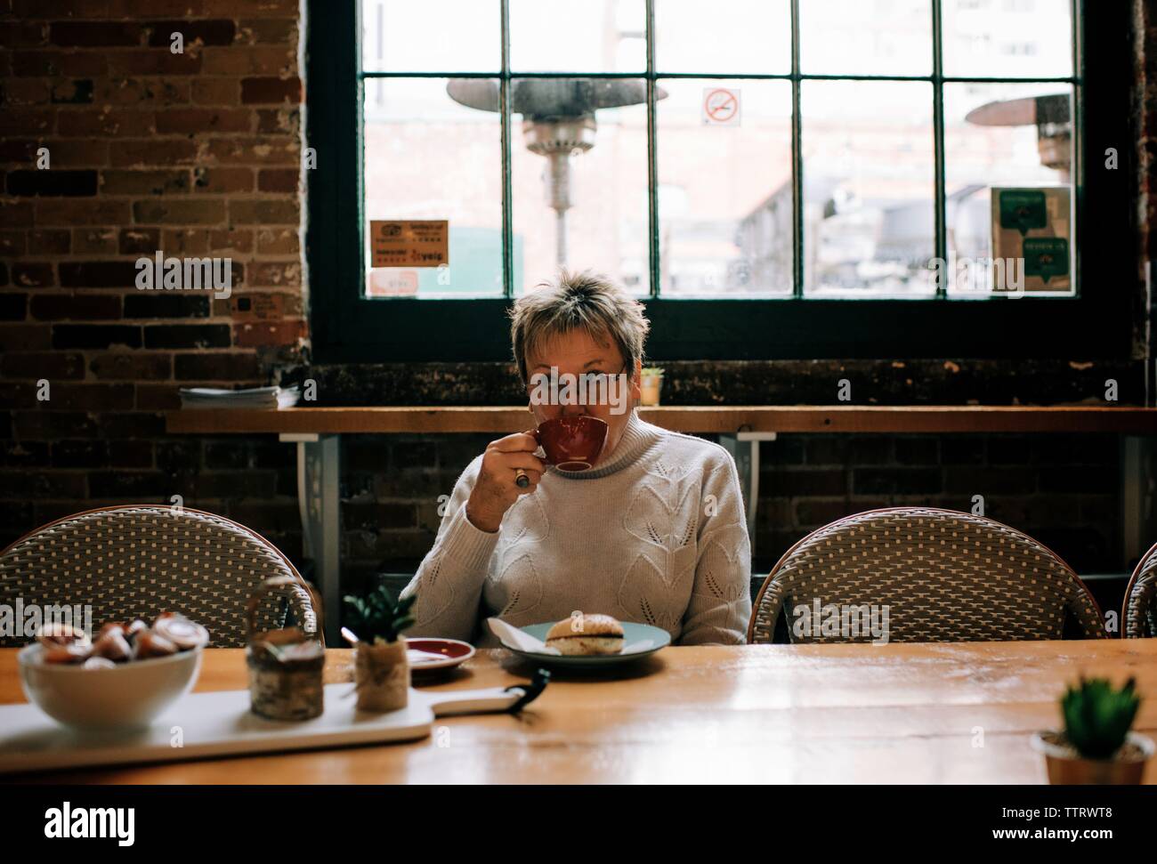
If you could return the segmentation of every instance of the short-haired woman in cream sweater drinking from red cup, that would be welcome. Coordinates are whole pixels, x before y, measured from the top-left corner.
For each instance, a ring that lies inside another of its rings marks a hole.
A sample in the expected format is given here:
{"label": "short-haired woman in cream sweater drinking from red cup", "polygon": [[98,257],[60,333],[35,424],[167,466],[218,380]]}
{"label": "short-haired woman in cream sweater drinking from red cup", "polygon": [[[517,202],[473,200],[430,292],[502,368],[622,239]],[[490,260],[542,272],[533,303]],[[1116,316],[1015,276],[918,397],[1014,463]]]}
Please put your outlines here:
{"label": "short-haired woman in cream sweater drinking from red cup", "polygon": [[[751,552],[738,474],[718,444],[635,413],[643,305],[603,278],[562,271],[518,298],[511,318],[536,428],[591,414],[606,421],[606,441],[584,471],[546,465],[533,428],[491,442],[458,478],[434,547],[401,592],[418,595],[407,634],[495,645],[491,615],[521,627],[581,611],[662,627],[676,644],[743,643]],[[607,396],[544,404],[535,384],[552,371],[613,379],[624,398],[589,387]]]}

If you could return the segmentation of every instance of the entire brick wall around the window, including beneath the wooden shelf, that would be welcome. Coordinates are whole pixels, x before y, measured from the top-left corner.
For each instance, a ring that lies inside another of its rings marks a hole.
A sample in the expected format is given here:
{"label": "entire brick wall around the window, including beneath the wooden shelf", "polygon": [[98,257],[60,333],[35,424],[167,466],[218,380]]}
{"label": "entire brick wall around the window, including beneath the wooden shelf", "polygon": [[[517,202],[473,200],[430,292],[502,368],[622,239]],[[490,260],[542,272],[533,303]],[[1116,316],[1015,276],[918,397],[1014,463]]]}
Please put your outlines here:
{"label": "entire brick wall around the window, including beneath the wooden shelf", "polygon": [[[1137,0],[1138,45],[1157,39],[1145,6]],[[300,28],[293,0],[0,0],[0,542],[87,507],[182,495],[300,556],[292,445],[168,436],[160,413],[176,406],[179,385],[265,384],[308,360]],[[174,31],[184,35],[182,54],[170,51]],[[1138,62],[1138,93],[1152,93],[1148,74]],[[1150,250],[1157,101],[1137,102],[1147,121],[1137,208]],[[42,146],[51,171],[36,170]],[[133,261],[156,250],[230,257],[233,296],[137,290]],[[450,365],[310,374],[330,403],[515,398],[502,364]],[[835,371],[845,365],[687,364],[672,376],[670,401],[828,401]],[[853,371],[880,404],[1079,401],[1106,376],[1121,379],[1123,401],[1144,399],[1136,365]],[[36,398],[40,379],[49,401]],[[413,567],[433,540],[439,496],[488,437],[347,442],[342,559],[352,582],[383,562]],[[782,436],[764,445],[757,563],[766,569],[846,514],[897,503],[970,509],[983,495],[988,515],[1078,569],[1120,569],[1115,459],[1115,438],[1100,436]]]}

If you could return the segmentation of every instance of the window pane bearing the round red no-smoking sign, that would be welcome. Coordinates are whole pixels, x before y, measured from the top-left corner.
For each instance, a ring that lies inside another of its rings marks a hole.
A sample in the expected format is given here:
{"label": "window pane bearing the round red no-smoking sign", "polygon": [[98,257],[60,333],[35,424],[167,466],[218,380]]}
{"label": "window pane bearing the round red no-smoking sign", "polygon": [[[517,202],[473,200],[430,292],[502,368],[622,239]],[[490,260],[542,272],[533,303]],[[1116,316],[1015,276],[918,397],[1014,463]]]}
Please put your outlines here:
{"label": "window pane bearing the round red no-smoking sign", "polygon": [[[665,79],[657,103],[664,297],[790,296],[791,86]],[[718,108],[734,111],[715,121]]]}

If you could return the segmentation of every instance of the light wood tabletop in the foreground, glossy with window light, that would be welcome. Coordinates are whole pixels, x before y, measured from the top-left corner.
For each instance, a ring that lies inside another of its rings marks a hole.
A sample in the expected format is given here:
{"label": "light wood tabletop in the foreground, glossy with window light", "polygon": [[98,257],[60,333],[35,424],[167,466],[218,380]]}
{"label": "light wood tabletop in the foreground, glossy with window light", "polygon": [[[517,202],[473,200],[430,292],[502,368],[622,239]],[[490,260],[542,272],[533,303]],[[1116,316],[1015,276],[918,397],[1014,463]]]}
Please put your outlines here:
{"label": "light wood tabletop in the foreground, glossy with window light", "polygon": [[[349,679],[329,651],[326,680]],[[1042,783],[1033,731],[1077,675],[1137,679],[1157,734],[1157,640],[668,648],[614,674],[557,671],[521,716],[439,718],[429,738],[344,749],[13,777],[69,783]],[[526,680],[482,650],[422,687]],[[245,687],[244,652],[209,649],[198,691]],[[0,703],[23,702],[16,649]],[[1152,766],[1147,783],[1157,782]]]}

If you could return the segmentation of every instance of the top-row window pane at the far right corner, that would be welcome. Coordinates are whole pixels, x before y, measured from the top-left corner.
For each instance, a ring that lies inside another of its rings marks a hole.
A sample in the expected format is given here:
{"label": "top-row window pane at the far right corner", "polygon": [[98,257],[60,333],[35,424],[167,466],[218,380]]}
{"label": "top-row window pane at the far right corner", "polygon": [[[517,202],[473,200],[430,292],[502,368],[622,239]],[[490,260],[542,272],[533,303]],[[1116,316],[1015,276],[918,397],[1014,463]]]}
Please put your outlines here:
{"label": "top-row window pane at the far right corner", "polygon": [[943,0],[944,74],[1073,74],[1069,0]]}

